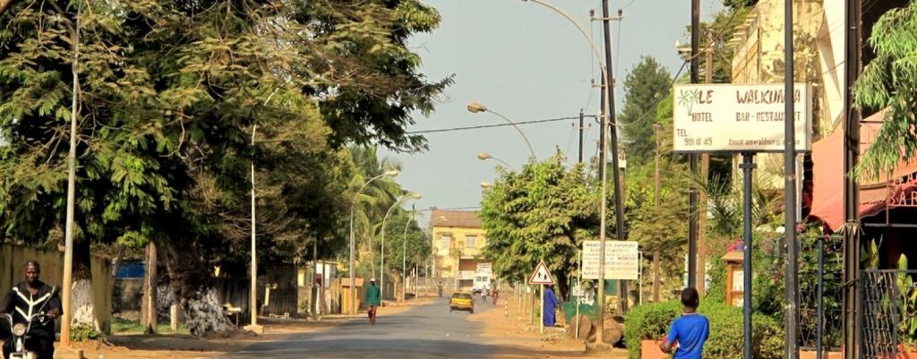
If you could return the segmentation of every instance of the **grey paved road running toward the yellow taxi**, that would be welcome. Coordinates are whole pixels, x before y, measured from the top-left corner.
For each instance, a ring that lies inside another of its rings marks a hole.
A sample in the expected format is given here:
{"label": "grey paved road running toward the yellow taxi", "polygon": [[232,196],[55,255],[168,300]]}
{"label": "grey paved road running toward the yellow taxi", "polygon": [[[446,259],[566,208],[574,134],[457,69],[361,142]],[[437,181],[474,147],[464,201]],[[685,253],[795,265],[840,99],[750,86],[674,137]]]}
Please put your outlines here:
{"label": "grey paved road running toward the yellow taxi", "polygon": [[383,308],[375,326],[348,321],[221,358],[485,358],[505,352],[507,347],[482,335],[481,322],[469,321],[470,315],[493,310],[490,304],[477,307],[475,314],[450,313],[444,298],[400,314],[386,315]]}

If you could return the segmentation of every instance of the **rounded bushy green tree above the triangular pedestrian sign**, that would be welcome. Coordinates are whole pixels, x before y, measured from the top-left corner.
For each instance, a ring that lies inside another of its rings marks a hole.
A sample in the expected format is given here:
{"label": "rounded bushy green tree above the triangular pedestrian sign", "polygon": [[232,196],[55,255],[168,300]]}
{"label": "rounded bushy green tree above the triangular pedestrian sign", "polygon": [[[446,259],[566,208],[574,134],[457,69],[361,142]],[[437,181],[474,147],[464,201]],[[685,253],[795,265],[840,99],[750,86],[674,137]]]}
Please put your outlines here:
{"label": "rounded bushy green tree above the triangular pedestrian sign", "polygon": [[501,172],[484,191],[481,224],[488,236],[483,255],[497,276],[525,281],[544,260],[566,294],[580,245],[599,226],[598,192],[587,186],[583,166],[566,169],[558,152],[521,172]]}

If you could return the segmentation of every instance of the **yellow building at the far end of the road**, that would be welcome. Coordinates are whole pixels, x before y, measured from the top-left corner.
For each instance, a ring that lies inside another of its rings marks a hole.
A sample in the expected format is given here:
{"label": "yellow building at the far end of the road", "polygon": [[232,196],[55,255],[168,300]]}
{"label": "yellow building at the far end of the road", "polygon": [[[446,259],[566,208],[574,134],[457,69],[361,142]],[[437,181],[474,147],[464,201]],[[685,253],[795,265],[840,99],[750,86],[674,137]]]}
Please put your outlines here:
{"label": "yellow building at the far end of the road", "polygon": [[481,256],[487,233],[481,228],[478,212],[440,211],[430,213],[433,234],[433,277],[444,286],[469,289],[479,267],[489,262]]}

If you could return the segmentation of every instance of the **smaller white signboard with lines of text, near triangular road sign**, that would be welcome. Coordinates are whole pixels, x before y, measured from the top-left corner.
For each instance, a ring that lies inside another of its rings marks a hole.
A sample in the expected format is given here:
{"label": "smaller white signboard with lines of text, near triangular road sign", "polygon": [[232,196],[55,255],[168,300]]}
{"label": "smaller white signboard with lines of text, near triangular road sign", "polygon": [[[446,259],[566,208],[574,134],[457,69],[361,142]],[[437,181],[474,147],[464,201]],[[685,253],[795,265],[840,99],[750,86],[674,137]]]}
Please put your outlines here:
{"label": "smaller white signboard with lines of text, near triangular road sign", "polygon": [[[640,255],[636,242],[605,241],[605,279],[636,280],[640,274]],[[599,278],[599,241],[582,242],[582,278]]]}

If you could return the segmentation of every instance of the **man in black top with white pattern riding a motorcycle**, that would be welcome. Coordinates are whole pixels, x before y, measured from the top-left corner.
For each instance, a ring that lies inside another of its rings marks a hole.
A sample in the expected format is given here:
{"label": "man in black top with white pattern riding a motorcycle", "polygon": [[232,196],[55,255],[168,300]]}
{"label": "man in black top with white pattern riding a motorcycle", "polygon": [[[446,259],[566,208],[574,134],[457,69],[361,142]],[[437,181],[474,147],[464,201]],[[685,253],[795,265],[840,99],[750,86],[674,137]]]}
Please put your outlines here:
{"label": "man in black top with white pattern riding a motorcycle", "polygon": [[[54,319],[61,315],[61,298],[57,290],[39,280],[41,267],[36,261],[28,261],[24,266],[26,280],[13,287],[6,298],[0,303],[0,314],[13,316],[13,323],[28,325],[31,316],[45,313],[48,319],[32,322],[29,329],[29,340],[26,349],[35,352],[38,359],[52,359],[54,357]],[[3,354],[8,358],[13,352],[13,343],[10,338],[4,338]]]}

